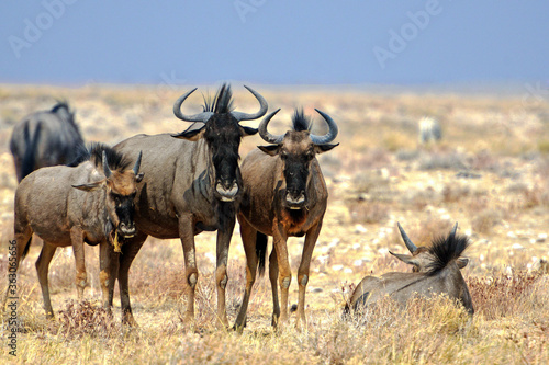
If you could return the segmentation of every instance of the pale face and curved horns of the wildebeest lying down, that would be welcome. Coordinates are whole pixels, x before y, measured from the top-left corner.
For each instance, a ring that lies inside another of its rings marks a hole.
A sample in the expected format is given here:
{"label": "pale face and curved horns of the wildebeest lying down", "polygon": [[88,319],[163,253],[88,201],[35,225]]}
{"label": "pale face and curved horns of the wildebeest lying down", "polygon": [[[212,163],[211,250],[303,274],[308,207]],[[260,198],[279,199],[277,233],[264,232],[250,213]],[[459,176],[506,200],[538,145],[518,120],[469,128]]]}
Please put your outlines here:
{"label": "pale face and curved horns of the wildebeest lying down", "polygon": [[[458,230],[458,224],[453,226],[450,235],[445,239],[444,242],[440,242],[440,244],[434,244],[433,248],[426,248],[426,247],[416,247],[414,242],[410,239],[410,237],[406,235],[404,229],[402,228],[400,223],[396,223],[399,226],[399,230],[402,236],[402,240],[406,244],[406,248],[408,249],[410,254],[400,254],[400,253],[393,253],[389,251],[393,256],[396,259],[401,260],[402,262],[405,262],[410,265],[413,265],[412,272],[414,273],[426,273],[429,272],[433,269],[433,263],[437,260],[437,256],[435,252],[433,251],[434,247],[449,247],[450,244],[448,242],[453,242],[457,240],[456,238],[456,231]],[[464,237],[460,237],[459,239],[466,240]],[[463,243],[464,244],[464,243]],[[456,264],[458,265],[459,269],[463,269],[467,266],[469,263],[469,259],[467,258],[461,258],[457,256],[456,259]]]}

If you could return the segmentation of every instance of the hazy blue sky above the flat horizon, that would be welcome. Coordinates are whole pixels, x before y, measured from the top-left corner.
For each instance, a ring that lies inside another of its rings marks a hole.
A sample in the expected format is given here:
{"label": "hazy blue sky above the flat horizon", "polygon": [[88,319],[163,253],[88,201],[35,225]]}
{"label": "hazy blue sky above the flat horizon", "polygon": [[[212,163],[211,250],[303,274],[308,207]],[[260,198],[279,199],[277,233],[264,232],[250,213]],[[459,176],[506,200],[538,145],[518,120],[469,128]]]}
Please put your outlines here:
{"label": "hazy blue sky above the flat horizon", "polygon": [[549,1],[3,0],[0,82],[549,80]]}

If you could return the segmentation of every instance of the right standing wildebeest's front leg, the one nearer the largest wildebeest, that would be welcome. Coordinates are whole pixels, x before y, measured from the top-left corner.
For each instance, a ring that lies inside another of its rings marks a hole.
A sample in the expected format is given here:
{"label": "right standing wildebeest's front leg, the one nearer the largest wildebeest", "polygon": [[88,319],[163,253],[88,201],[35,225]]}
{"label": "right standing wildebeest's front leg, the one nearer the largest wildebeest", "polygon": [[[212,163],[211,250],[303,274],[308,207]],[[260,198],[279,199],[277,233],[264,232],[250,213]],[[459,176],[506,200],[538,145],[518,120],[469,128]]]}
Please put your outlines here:
{"label": "right standing wildebeest's front leg, the one nearer the largest wildebeest", "polygon": [[278,324],[280,323],[284,324],[288,321],[288,292],[290,289],[290,284],[292,282],[292,270],[290,267],[290,261],[288,260],[288,247],[287,247],[288,237],[285,236],[283,228],[278,227],[278,229],[273,231],[272,238],[274,243],[274,250],[277,251],[277,261],[279,270],[278,280],[280,285],[280,317]]}

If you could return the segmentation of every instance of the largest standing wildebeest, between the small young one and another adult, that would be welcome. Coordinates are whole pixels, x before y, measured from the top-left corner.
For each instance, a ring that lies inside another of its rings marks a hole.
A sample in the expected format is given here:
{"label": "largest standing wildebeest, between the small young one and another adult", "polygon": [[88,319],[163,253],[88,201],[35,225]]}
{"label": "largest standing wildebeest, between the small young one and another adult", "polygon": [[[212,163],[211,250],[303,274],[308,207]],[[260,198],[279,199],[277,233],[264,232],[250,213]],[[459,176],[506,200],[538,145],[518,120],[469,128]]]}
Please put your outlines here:
{"label": "largest standing wildebeest, between the small young one and another adult", "polygon": [[126,240],[120,256],[119,285],[125,323],[136,324],[130,305],[127,275],[147,236],[181,239],[187,281],[183,320],[194,320],[194,287],[199,274],[194,235],[217,230],[217,319],[228,326],[225,309],[227,254],[242,192],[238,148],[243,137],[257,133],[257,129],[242,126],[239,122],[259,118],[268,107],[261,95],[246,89],[259,101],[257,113],[232,111],[231,88],[224,84],[212,102],[205,102],[202,113],[186,115],[181,105],[194,89],[173,105],[178,118],[194,122],[186,132],[178,135],[138,135],[115,146],[116,150],[133,158],[139,150],[144,152],[142,170],[145,180],[137,193],[135,212],[137,236]]}

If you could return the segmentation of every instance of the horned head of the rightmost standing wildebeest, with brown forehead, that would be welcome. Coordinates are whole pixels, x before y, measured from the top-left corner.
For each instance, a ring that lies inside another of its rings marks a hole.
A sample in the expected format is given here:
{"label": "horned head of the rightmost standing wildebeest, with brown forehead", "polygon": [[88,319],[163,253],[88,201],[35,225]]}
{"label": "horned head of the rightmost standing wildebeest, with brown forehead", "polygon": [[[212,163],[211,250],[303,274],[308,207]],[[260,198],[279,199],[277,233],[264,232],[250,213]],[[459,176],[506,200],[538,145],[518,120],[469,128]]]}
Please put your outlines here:
{"label": "horned head of the rightmost standing wildebeest, with brown forehead", "polygon": [[337,136],[337,125],[329,115],[315,110],[328,124],[324,136],[311,134],[311,119],[303,111],[295,111],[292,117],[293,129],[284,135],[271,135],[267,130],[270,119],[280,109],[269,114],[259,125],[259,135],[270,146],[259,146],[259,149],[270,156],[279,156],[284,166],[285,195],[283,204],[290,209],[302,209],[307,206],[306,186],[311,178],[311,163],[316,153],[329,151],[339,144],[329,144]]}

